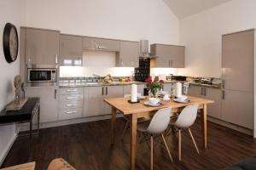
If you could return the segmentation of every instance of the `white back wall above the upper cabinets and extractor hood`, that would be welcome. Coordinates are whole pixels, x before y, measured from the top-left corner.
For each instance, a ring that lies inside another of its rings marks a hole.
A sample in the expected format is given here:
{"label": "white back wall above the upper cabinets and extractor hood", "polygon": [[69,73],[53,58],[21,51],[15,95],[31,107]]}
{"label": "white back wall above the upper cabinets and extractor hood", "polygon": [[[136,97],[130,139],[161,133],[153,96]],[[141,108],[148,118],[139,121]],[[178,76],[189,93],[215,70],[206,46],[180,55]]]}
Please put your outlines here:
{"label": "white back wall above the upper cabinets and extractor hood", "polygon": [[26,0],[26,26],[149,42],[179,42],[179,21],[163,0]]}

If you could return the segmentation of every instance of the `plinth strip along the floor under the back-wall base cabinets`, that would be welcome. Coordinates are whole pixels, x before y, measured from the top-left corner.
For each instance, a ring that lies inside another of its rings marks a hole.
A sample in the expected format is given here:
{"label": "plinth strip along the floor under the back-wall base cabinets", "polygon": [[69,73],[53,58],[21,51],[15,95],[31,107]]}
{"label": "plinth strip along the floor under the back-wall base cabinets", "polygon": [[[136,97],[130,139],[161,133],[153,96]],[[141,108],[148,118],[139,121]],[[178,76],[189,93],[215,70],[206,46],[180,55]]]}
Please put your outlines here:
{"label": "plinth strip along the floor under the back-wall base cabinets", "polygon": [[[122,117],[122,115],[118,114],[117,117]],[[40,128],[60,127],[60,126],[77,124],[77,123],[82,123],[82,122],[101,121],[101,120],[106,120],[106,119],[110,119],[110,118],[111,118],[111,115],[104,115],[104,116],[82,117],[82,118],[69,119],[69,120],[57,121],[57,122],[45,122],[45,123],[40,123]],[[37,128],[36,124],[33,125],[33,129],[35,129],[35,128]],[[19,129],[19,132],[28,131],[29,124],[28,123],[20,124],[18,129]]]}

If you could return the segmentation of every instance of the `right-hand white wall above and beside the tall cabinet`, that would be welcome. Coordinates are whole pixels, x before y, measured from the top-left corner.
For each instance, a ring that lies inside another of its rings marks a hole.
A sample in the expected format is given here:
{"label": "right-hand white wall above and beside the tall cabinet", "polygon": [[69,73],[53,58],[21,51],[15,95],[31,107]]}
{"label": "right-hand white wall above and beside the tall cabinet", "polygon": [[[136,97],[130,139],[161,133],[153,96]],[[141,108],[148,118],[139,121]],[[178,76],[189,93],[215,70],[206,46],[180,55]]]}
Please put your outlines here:
{"label": "right-hand white wall above and beside the tall cabinet", "polygon": [[195,77],[221,76],[221,35],[256,27],[256,1],[233,0],[180,21],[186,69]]}

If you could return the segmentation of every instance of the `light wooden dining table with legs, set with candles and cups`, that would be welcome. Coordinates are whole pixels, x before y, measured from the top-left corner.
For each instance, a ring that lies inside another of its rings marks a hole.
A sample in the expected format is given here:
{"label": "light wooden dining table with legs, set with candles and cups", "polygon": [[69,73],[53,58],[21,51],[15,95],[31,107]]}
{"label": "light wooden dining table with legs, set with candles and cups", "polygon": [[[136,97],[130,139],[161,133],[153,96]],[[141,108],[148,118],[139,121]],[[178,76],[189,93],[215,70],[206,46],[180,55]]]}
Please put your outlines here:
{"label": "light wooden dining table with legs, set with candles and cups", "polygon": [[179,113],[187,105],[199,105],[201,110],[201,133],[203,140],[203,148],[207,149],[207,105],[214,103],[210,99],[202,99],[193,96],[188,96],[189,103],[177,103],[172,99],[169,101],[162,101],[163,105],[158,107],[151,107],[144,105],[147,99],[141,99],[139,103],[131,104],[127,98],[108,98],[104,101],[112,107],[112,119],[111,119],[111,144],[114,144],[115,131],[116,131],[116,116],[119,111],[124,116],[131,116],[131,170],[135,169],[136,150],[137,150],[137,119],[141,117],[153,116],[154,113],[160,109],[166,107],[172,107],[172,113]]}

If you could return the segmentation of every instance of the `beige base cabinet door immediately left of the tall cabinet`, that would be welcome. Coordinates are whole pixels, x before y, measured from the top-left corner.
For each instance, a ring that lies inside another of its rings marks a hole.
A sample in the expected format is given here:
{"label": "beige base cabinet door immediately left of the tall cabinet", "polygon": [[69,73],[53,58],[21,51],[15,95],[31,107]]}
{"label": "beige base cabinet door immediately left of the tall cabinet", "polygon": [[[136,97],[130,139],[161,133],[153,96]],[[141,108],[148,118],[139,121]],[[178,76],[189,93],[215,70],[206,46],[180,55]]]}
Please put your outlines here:
{"label": "beige base cabinet door immediately left of the tall cabinet", "polygon": [[207,105],[207,115],[221,119],[222,90],[218,88],[205,88],[206,99],[212,99],[213,104]]}

